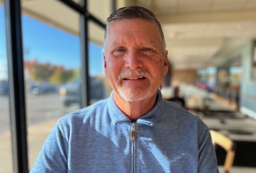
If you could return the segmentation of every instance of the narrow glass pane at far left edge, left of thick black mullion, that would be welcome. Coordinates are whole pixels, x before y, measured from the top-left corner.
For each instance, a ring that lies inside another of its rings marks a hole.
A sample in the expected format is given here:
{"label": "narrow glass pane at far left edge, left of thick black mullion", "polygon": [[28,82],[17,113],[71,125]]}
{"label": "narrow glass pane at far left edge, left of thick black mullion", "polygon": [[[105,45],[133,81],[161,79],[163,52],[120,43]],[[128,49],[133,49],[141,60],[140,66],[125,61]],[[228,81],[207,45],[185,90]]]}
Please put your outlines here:
{"label": "narrow glass pane at far left edge, left of thick black mullion", "polygon": [[0,173],[13,172],[8,86],[5,9],[0,5]]}

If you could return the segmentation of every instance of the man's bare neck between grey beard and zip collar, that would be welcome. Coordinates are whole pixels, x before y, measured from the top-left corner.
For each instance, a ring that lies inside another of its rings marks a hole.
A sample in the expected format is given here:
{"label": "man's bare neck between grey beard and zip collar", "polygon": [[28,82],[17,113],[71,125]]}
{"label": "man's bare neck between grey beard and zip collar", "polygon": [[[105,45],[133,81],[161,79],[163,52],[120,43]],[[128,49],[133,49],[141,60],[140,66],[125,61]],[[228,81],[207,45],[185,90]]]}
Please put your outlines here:
{"label": "man's bare neck between grey beard and zip collar", "polygon": [[156,99],[157,93],[141,101],[127,102],[114,94],[114,101],[119,109],[133,122],[149,112],[154,107]]}

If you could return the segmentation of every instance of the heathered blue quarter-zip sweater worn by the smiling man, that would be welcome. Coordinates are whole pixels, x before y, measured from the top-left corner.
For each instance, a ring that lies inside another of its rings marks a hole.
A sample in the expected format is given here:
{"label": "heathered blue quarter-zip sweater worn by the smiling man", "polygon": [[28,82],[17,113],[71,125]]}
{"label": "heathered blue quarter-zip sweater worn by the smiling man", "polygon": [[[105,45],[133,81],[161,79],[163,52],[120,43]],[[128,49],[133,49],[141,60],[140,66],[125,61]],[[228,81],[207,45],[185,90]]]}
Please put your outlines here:
{"label": "heathered blue quarter-zip sweater worn by the smiling man", "polygon": [[207,126],[162,99],[136,122],[108,99],[58,120],[31,173],[216,173]]}

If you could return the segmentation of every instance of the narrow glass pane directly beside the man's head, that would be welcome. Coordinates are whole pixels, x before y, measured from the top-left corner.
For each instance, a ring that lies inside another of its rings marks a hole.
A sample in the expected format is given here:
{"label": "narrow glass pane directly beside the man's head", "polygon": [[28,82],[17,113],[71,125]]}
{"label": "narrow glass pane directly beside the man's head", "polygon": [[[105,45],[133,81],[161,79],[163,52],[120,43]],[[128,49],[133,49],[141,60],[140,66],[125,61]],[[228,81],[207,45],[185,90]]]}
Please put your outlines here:
{"label": "narrow glass pane directly beside the man's head", "polygon": [[103,41],[105,28],[89,22],[89,75],[90,75],[90,104],[109,97],[112,88],[104,75]]}

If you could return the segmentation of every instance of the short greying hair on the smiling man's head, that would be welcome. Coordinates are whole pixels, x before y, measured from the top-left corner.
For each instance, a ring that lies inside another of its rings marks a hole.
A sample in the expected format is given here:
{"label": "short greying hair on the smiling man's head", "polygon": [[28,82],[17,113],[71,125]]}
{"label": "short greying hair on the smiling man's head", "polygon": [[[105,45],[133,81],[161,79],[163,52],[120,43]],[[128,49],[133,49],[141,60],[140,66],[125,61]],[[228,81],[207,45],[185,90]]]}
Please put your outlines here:
{"label": "short greying hair on the smiling man's head", "polygon": [[158,36],[162,42],[163,52],[165,51],[166,43],[165,43],[162,27],[158,22],[155,14],[149,9],[144,7],[130,6],[130,7],[119,8],[117,11],[114,11],[112,14],[110,14],[110,16],[107,18],[107,25],[106,25],[105,35],[104,35],[104,46],[103,46],[104,52],[106,51],[106,43],[108,41],[108,31],[110,26],[114,22],[120,21],[122,19],[144,19],[144,20],[154,22],[157,26]]}

